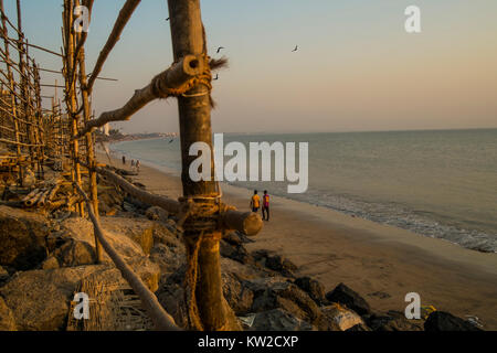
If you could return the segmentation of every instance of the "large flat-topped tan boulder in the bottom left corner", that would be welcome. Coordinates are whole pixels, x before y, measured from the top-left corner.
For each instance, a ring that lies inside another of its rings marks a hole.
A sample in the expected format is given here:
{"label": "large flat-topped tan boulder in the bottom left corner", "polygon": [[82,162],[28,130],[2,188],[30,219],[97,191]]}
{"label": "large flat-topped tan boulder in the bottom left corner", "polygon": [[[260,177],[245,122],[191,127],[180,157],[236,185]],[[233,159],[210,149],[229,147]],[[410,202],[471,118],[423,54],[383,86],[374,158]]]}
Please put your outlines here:
{"label": "large flat-topped tan boulder in the bottom left corner", "polygon": [[77,284],[102,268],[85,266],[17,272],[0,288],[0,296],[12,311],[18,330],[64,330]]}

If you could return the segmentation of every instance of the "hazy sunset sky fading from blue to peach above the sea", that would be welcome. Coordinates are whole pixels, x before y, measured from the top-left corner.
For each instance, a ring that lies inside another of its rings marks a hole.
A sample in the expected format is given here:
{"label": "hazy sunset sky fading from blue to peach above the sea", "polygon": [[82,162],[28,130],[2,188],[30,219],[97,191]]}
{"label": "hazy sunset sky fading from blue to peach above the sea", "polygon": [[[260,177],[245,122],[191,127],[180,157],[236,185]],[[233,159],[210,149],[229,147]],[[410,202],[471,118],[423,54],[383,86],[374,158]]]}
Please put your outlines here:
{"label": "hazy sunset sky fading from blue to peach above the sea", "polygon": [[[15,1],[4,2],[15,20]],[[88,72],[124,2],[95,1]],[[416,34],[404,30],[404,10],[412,4],[421,9]],[[224,46],[230,60],[213,85],[215,132],[497,127],[495,0],[203,0],[201,6],[210,55],[219,57],[215,49]],[[30,42],[60,51],[62,0],[22,0],[22,11]],[[118,82],[95,86],[97,116],[121,107],[172,63],[168,17],[166,0],[141,1],[102,72]],[[293,53],[295,45],[299,50]],[[42,67],[62,67],[59,57],[34,54]],[[55,79],[62,83],[56,74],[42,76],[43,83]],[[116,127],[178,131],[177,103],[154,101]]]}

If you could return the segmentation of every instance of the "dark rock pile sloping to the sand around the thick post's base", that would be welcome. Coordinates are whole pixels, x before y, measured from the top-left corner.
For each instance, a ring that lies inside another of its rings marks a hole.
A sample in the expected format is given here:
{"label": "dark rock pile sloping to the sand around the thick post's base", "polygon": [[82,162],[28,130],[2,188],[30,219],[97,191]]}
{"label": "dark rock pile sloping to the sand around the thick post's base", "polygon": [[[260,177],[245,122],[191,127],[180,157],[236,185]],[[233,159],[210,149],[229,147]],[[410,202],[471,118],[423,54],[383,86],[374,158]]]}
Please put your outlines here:
{"label": "dark rock pile sloping to the sand around the thick post's base", "polygon": [[[359,293],[339,284],[329,292],[297,266],[269,250],[248,253],[247,239],[232,233],[221,242],[223,293],[244,324],[256,331],[445,331],[478,330],[442,311],[423,320],[402,312],[376,312]],[[186,324],[182,302],[184,266],[161,282],[159,301],[179,324]]]}

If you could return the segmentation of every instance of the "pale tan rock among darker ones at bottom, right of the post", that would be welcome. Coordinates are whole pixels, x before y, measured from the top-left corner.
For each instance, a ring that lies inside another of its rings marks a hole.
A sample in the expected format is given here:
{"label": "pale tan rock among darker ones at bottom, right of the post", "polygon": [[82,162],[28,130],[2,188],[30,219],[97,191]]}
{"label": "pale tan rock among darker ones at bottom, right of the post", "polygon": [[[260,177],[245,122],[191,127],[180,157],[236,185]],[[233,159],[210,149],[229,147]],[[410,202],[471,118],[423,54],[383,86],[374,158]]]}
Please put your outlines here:
{"label": "pale tan rock among darker ones at bottom, right of the post", "polygon": [[346,331],[355,325],[362,324],[362,319],[352,310],[332,303],[321,308],[322,317],[319,319],[319,331]]}

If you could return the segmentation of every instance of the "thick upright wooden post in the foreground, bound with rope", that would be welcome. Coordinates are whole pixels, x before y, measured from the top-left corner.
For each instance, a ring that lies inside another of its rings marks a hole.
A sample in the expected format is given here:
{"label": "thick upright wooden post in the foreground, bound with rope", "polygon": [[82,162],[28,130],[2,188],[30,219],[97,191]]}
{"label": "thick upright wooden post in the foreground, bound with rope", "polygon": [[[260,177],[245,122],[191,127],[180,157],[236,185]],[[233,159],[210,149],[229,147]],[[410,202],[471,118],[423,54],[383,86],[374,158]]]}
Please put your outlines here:
{"label": "thick upright wooden post in the foreground, bound with rope", "polygon": [[[168,0],[169,15],[172,35],[172,46],[175,61],[181,60],[186,55],[207,55],[207,44],[201,19],[199,0]],[[198,84],[187,94],[178,97],[180,133],[181,133],[181,157],[184,197],[205,204],[215,203],[220,196],[218,184],[214,181],[193,182],[189,175],[190,163],[197,157],[189,156],[190,146],[194,142],[205,142],[212,151],[211,130],[211,103],[210,92],[205,85]],[[212,157],[212,156],[211,156]],[[213,160],[213,158],[211,158]],[[211,175],[214,165],[211,164]],[[191,217],[193,224],[194,216]],[[233,311],[226,304],[222,293],[219,242],[221,234],[219,229],[189,227],[186,224],[184,236],[187,243],[188,260],[192,261],[197,257],[195,246],[192,239],[201,239],[198,249],[198,278],[194,301],[199,309],[202,327],[192,324],[193,329],[204,329],[207,331],[240,330],[240,325],[234,318]],[[187,302],[188,304],[188,302]],[[193,303],[194,304],[194,303]],[[190,318],[191,321],[191,318]]]}

